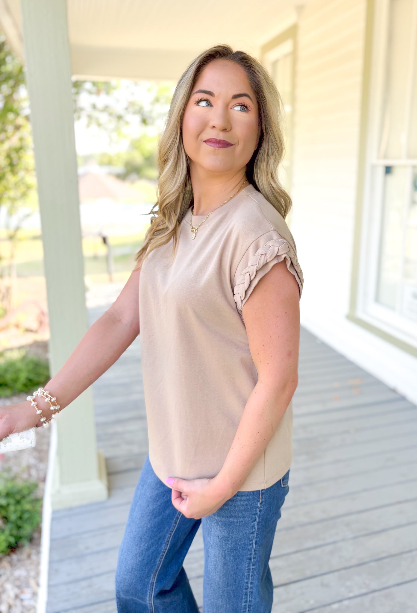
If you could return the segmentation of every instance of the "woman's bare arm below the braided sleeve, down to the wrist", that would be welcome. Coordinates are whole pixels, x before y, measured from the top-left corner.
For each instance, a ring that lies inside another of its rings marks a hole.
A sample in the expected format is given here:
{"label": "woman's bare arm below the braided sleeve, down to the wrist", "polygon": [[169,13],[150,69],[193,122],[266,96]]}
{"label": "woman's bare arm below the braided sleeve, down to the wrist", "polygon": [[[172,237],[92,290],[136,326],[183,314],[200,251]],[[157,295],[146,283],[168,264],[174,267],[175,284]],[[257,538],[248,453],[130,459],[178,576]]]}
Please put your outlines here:
{"label": "woman's bare arm below the braided sleeve, down to the wrist", "polygon": [[299,287],[285,260],[275,264],[243,305],[258,382],[247,400],[215,480],[234,495],[266,449],[298,384]]}

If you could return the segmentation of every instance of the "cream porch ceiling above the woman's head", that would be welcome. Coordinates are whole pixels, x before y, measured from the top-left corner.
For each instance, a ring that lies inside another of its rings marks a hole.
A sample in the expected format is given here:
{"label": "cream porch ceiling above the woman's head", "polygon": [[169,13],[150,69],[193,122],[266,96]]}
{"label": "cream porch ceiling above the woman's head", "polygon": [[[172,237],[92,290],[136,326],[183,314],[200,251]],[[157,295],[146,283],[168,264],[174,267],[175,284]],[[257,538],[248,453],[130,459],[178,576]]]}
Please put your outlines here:
{"label": "cream porch ceiling above the woman's head", "polygon": [[[259,47],[308,0],[67,0],[72,74],[176,80],[197,53],[227,42]],[[0,28],[23,59],[20,0],[0,0]]]}

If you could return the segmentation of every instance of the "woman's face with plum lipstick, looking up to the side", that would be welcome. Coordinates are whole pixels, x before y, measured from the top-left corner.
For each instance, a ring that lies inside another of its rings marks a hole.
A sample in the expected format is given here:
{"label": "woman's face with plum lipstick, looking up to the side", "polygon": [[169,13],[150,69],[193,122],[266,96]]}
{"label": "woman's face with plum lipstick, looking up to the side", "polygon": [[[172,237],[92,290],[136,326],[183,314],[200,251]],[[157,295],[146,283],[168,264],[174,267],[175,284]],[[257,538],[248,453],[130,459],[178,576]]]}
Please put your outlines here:
{"label": "woman's face with plum lipstick, looking up to the side", "polygon": [[202,70],[185,108],[182,139],[191,166],[230,174],[248,164],[258,146],[258,104],[239,64],[215,59]]}

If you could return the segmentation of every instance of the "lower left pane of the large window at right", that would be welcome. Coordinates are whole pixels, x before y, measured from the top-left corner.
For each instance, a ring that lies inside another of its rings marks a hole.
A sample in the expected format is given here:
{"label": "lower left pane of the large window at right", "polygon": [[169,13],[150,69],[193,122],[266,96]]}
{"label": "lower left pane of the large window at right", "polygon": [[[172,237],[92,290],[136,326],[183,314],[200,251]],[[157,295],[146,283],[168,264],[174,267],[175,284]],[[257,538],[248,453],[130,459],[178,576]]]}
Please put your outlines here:
{"label": "lower left pane of the large window at right", "polygon": [[377,302],[396,310],[402,282],[402,244],[407,205],[406,166],[386,166]]}

